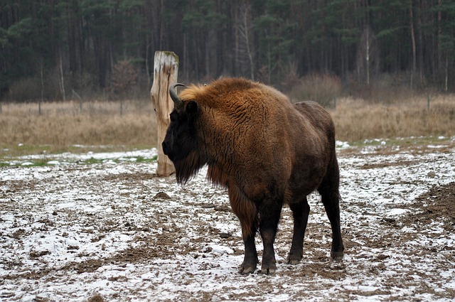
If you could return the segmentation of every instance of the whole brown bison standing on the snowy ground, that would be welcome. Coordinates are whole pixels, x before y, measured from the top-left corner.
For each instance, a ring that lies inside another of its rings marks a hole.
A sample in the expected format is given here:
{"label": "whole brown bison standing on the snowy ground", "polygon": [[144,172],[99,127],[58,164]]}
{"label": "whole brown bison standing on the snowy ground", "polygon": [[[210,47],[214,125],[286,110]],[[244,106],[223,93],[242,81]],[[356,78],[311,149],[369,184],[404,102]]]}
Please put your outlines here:
{"label": "whole brown bison standing on the snowy ground", "polygon": [[332,229],[331,257],[343,257],[339,169],[332,119],[315,102],[291,104],[278,90],[242,78],[191,85],[174,102],[162,143],[176,168],[178,183],[205,165],[207,178],[228,189],[232,212],[242,225],[245,256],[241,274],[257,268],[257,230],[262,237],[262,273],[276,270],[274,239],[284,204],[294,218],[287,263],[302,258],[310,207],[317,190]]}

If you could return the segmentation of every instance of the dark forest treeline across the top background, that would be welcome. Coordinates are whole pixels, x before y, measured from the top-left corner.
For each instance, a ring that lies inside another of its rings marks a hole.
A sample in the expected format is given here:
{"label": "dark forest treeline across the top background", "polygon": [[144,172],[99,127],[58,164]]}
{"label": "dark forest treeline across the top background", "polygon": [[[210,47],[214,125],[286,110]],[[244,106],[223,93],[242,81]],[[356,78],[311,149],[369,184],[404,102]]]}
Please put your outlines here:
{"label": "dark forest treeline across the top background", "polygon": [[3,98],[142,90],[156,50],[179,56],[184,82],[230,75],[286,89],[305,75],[349,86],[387,74],[455,90],[449,0],[0,0],[0,25]]}

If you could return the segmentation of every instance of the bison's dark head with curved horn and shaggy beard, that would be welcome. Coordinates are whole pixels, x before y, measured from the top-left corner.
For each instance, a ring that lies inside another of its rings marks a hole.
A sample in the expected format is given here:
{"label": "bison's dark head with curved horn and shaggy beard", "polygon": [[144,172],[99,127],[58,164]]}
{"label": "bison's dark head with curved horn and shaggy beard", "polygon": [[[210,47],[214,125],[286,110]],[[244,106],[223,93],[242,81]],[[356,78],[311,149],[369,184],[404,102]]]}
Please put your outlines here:
{"label": "bison's dark head with curved horn and shaggy beard", "polygon": [[197,127],[199,114],[198,103],[195,100],[183,102],[175,92],[176,86],[171,85],[169,95],[175,104],[171,112],[171,123],[163,141],[163,151],[176,167],[178,183],[194,176],[207,163],[205,149],[199,143],[200,133]]}

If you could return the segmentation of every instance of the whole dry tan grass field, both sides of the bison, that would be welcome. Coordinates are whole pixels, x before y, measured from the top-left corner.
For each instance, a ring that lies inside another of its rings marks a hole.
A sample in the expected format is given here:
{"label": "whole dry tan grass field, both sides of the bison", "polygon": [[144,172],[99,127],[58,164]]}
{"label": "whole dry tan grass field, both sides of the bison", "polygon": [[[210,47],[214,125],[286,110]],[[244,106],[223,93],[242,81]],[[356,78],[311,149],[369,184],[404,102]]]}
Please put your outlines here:
{"label": "whole dry tan grass field, both sides of the bison", "polygon": [[[338,99],[329,109],[337,140],[455,136],[455,95],[397,104]],[[40,114],[41,111],[41,114]],[[0,155],[45,151],[128,150],[156,146],[156,117],[147,101],[1,104]],[[82,148],[81,148],[82,146]]]}

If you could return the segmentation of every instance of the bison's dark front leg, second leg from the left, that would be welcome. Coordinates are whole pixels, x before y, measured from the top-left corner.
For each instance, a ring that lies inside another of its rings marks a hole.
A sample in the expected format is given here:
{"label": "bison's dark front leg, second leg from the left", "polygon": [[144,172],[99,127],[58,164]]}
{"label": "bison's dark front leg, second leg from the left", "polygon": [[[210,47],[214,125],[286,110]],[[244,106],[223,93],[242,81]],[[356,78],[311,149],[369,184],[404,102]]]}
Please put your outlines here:
{"label": "bison's dark front leg, second leg from the left", "polygon": [[259,232],[264,244],[262,254],[262,274],[274,274],[277,270],[275,260],[274,241],[277,234],[279,216],[281,215],[281,203],[262,203],[259,209]]}

